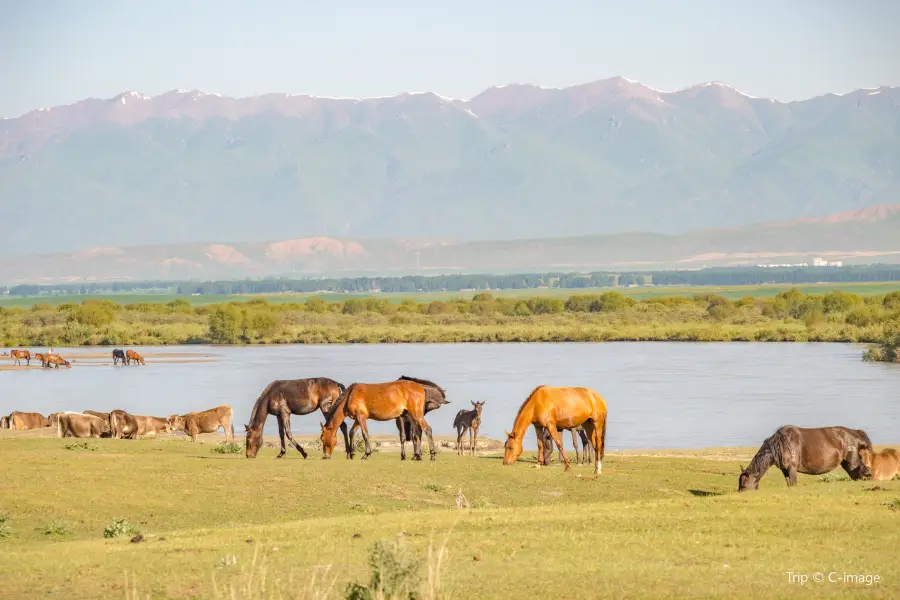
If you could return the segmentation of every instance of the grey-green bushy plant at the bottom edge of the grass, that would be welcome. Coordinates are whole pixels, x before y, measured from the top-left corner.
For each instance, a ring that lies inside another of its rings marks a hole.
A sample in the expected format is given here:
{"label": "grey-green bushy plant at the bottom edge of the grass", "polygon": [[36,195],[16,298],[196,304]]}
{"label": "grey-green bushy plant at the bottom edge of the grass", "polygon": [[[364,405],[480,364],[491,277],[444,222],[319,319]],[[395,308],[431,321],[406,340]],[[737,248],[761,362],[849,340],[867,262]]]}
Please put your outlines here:
{"label": "grey-green bushy plant at the bottom edge of the grass", "polygon": [[376,600],[421,598],[421,568],[423,560],[402,540],[379,540],[369,552],[372,569],[368,585],[351,583],[347,586],[347,600]]}

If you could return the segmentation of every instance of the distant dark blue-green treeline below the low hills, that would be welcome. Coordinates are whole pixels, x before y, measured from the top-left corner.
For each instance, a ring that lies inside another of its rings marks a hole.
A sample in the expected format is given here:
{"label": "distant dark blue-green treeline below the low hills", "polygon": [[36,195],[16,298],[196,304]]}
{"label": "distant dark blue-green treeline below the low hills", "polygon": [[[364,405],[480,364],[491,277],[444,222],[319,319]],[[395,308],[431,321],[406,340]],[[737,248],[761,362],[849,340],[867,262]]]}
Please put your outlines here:
{"label": "distant dark blue-green treeline below the low hills", "polygon": [[406,277],[353,277],[324,279],[275,279],[237,281],[143,281],[17,285],[13,296],[94,295],[175,291],[178,294],[272,294],[279,292],[388,292],[515,290],[540,287],[598,288],[631,285],[761,285],[900,281],[900,265],[846,267],[716,267],[692,271],[627,273],[522,273],[516,275],[435,275]]}

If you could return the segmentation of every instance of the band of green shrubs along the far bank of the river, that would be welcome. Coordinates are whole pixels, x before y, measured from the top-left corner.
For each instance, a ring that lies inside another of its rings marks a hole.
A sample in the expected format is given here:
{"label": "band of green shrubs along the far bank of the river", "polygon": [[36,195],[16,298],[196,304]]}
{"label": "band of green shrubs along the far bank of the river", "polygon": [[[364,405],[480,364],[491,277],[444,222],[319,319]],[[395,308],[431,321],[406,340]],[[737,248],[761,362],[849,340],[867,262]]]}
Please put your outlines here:
{"label": "band of green shrubs along the far bank of the river", "polygon": [[378,299],[195,307],[86,301],[0,310],[13,347],[189,344],[379,344],[604,341],[864,342],[900,319],[900,292],[858,296],[798,290],[736,301],[714,294],[636,301],[618,292],[400,304]]}

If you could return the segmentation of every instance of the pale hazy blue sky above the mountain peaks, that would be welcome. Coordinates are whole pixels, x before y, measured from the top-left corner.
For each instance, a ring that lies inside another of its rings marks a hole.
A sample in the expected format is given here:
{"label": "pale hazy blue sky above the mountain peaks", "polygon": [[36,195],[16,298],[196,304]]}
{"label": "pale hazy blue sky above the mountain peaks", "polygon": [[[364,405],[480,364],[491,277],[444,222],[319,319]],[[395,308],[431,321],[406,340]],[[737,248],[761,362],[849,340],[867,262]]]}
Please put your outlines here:
{"label": "pale hazy blue sky above the mountain peaks", "polygon": [[796,100],[900,85],[900,0],[0,0],[0,116],[201,89],[469,98],[622,75]]}

